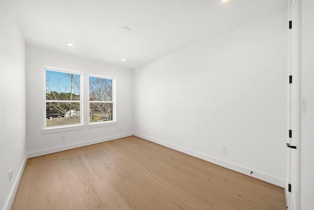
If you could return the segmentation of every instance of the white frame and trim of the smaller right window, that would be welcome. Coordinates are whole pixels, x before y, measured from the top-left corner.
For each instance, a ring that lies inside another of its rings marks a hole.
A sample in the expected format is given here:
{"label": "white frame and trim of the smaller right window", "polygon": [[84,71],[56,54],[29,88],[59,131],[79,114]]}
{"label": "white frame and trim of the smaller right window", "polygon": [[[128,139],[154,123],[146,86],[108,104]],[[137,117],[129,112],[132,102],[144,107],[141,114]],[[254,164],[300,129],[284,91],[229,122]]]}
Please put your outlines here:
{"label": "white frame and trim of the smaller right window", "polygon": [[[90,77],[97,77],[102,79],[108,79],[112,82],[112,101],[91,101],[90,95],[89,95],[89,80]],[[116,124],[116,91],[115,91],[115,78],[114,77],[108,77],[104,75],[98,75],[98,74],[88,74],[88,126],[89,127],[99,127],[99,126],[106,126],[106,125],[113,125]],[[90,121],[90,103],[96,102],[96,103],[112,103],[112,120],[110,121],[99,121],[99,122],[91,122]]]}

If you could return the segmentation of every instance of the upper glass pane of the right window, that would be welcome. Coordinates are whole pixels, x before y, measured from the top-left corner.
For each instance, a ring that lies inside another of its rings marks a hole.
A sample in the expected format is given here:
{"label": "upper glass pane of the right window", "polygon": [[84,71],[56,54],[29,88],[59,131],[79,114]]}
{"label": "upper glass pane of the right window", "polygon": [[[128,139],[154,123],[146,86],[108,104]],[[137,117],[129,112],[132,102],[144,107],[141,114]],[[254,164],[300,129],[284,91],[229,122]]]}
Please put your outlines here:
{"label": "upper glass pane of the right window", "polygon": [[89,77],[89,100],[112,101],[112,80]]}

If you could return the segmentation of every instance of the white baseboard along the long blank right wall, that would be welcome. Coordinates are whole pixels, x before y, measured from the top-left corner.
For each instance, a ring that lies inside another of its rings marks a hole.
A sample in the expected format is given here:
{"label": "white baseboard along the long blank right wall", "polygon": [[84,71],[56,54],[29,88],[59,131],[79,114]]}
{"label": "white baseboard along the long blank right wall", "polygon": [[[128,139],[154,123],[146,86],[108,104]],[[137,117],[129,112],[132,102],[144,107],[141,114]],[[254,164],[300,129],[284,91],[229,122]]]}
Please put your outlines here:
{"label": "white baseboard along the long blank right wall", "polygon": [[[180,146],[177,146],[177,145],[173,145],[173,144],[170,144],[170,143],[167,143],[167,142],[164,142],[164,141],[161,141],[161,140],[149,137],[149,136],[145,136],[145,135],[142,135],[142,134],[139,134],[139,133],[133,133],[133,135],[137,136],[139,138],[142,138],[142,139],[154,142],[156,144],[165,146],[167,148],[171,148],[173,150],[181,151],[181,152],[189,154],[191,156],[198,157],[200,159],[209,161],[211,163],[223,166],[225,168],[234,170],[234,171],[239,172],[241,174],[249,175],[249,176],[252,176],[252,177],[254,177],[256,179],[263,180],[263,181],[275,184],[275,185],[283,187],[283,188],[286,187],[286,180],[282,180],[280,178],[273,177],[271,175],[268,175],[268,174],[265,174],[265,173],[262,173],[262,172],[259,172],[259,171],[255,171],[255,170],[252,170],[252,169],[240,166],[240,165],[236,165],[234,163],[231,163],[231,162],[228,162],[228,161],[224,161],[224,160],[221,160],[221,159],[209,156],[207,154],[203,154],[203,153],[200,153],[200,152],[197,152],[197,151],[194,151],[194,150],[189,150],[189,149],[186,149],[186,148],[183,148],[183,147],[180,147]],[[253,171],[252,175],[250,175],[251,171]]]}

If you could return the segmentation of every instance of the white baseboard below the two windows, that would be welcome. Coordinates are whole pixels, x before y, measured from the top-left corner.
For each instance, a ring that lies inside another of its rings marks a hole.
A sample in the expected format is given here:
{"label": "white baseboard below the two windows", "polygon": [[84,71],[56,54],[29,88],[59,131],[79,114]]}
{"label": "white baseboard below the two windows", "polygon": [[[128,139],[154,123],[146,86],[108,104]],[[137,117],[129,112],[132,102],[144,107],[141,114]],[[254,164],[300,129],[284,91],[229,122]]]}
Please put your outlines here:
{"label": "white baseboard below the two windows", "polygon": [[56,147],[56,148],[51,148],[51,149],[47,149],[47,150],[33,151],[33,152],[29,152],[27,154],[27,158],[38,157],[38,156],[45,155],[45,154],[51,154],[54,152],[59,152],[59,151],[64,151],[64,150],[71,150],[71,149],[75,149],[75,148],[79,148],[79,147],[85,147],[88,145],[107,142],[107,141],[111,141],[114,139],[120,139],[120,138],[124,138],[124,137],[128,137],[128,136],[132,136],[132,135],[133,135],[133,133],[125,133],[125,134],[121,134],[121,135],[109,136],[109,137],[105,137],[105,138],[101,138],[101,139],[95,139],[95,140],[91,140],[91,141],[80,142],[80,143],[72,144],[72,145],[65,145],[62,147]]}

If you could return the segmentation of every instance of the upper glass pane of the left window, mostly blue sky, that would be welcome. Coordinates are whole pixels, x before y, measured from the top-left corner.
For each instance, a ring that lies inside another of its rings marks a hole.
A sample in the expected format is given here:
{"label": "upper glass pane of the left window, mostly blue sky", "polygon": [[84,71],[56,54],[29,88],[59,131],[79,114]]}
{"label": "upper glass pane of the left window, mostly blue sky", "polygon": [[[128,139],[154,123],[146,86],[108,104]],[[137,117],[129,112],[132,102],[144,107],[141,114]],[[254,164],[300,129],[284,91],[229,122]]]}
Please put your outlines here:
{"label": "upper glass pane of the left window, mostly blue sky", "polygon": [[79,74],[46,70],[46,100],[79,101]]}

